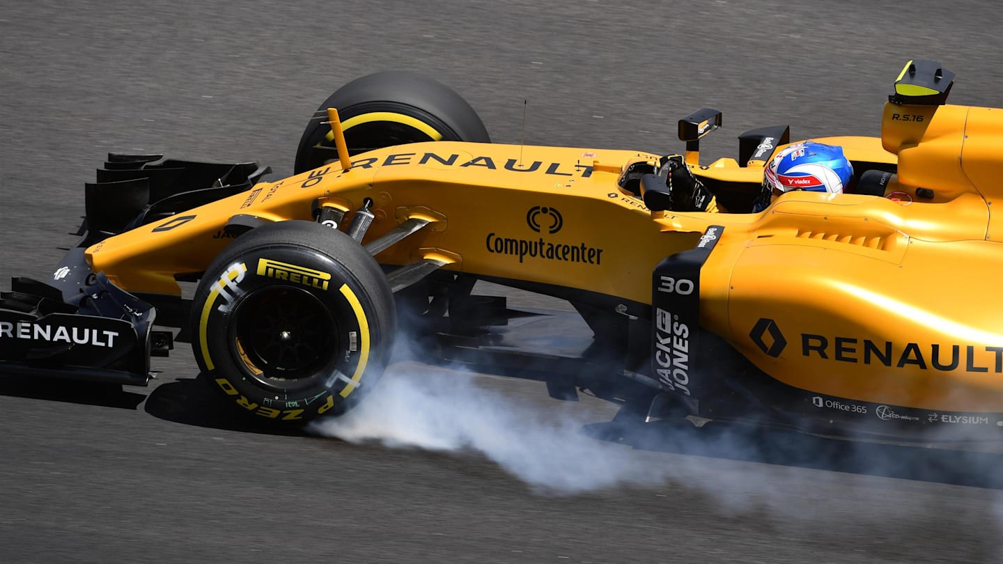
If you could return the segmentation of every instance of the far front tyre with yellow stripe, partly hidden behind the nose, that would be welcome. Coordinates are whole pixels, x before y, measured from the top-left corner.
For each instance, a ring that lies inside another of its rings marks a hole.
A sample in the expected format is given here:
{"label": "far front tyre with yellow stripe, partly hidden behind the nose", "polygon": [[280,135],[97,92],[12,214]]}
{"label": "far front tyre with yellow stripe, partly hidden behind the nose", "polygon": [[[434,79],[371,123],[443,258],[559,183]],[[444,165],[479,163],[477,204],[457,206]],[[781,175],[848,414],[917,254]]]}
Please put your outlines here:
{"label": "far front tyre with yellow stripe, partly hidden behind the nose", "polygon": [[350,156],[409,143],[491,140],[477,112],[448,86],[410,72],[377,72],[352,80],[320,104],[296,150],[296,174],[338,158],[328,107],[338,110]]}

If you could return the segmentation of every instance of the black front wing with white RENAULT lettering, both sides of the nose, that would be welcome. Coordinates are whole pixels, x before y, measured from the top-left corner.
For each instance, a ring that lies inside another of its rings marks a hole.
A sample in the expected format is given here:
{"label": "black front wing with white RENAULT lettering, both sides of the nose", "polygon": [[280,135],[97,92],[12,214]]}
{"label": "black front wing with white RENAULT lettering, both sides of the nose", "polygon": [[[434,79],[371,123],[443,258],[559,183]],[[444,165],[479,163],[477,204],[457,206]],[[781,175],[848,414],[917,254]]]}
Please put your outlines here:
{"label": "black front wing with white RENAULT lettering, both sides of the nose", "polygon": [[[80,240],[52,278],[14,278],[0,293],[0,375],[25,374],[145,385],[149,357],[166,356],[173,333],[152,329],[155,309],[91,272],[87,247],[251,189],[271,172],[256,163],[160,161],[108,155],[85,185]],[[170,320],[169,320],[170,321]]]}

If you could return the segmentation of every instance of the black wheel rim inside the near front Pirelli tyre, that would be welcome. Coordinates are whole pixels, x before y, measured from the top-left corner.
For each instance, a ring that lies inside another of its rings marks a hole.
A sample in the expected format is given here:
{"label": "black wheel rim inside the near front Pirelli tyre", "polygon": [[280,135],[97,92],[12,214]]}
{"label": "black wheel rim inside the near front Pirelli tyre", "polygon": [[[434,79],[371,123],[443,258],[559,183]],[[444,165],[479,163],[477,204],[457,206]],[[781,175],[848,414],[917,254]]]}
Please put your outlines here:
{"label": "black wheel rim inside the near front Pirelli tyre", "polygon": [[311,385],[341,349],[337,323],[313,294],[284,286],[261,288],[235,305],[231,340],[247,377],[277,389]]}

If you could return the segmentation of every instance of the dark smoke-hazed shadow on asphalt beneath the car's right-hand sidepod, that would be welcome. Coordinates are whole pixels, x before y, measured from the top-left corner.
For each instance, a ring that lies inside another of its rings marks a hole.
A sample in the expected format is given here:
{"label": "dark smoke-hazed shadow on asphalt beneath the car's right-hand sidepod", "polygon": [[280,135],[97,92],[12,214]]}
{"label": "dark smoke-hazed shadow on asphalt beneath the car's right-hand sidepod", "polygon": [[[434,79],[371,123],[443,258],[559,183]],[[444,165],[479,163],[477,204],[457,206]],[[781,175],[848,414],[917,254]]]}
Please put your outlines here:
{"label": "dark smoke-hazed shadow on asphalt beneath the car's right-hand sidepod", "polygon": [[583,434],[634,449],[975,488],[1003,489],[995,444],[902,446],[822,438],[794,431],[686,420],[600,422]]}

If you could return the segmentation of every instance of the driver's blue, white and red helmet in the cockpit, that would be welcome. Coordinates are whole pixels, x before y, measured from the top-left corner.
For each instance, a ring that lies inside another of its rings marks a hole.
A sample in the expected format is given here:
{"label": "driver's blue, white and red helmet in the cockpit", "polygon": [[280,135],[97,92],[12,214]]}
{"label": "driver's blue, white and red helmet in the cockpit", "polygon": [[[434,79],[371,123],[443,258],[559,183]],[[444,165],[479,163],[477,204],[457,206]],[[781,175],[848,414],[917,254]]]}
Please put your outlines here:
{"label": "driver's blue, white and red helmet in the cockpit", "polygon": [[752,211],[761,212],[774,196],[794,190],[841,194],[853,177],[842,147],[815,142],[788,146],[763,168],[762,190]]}

